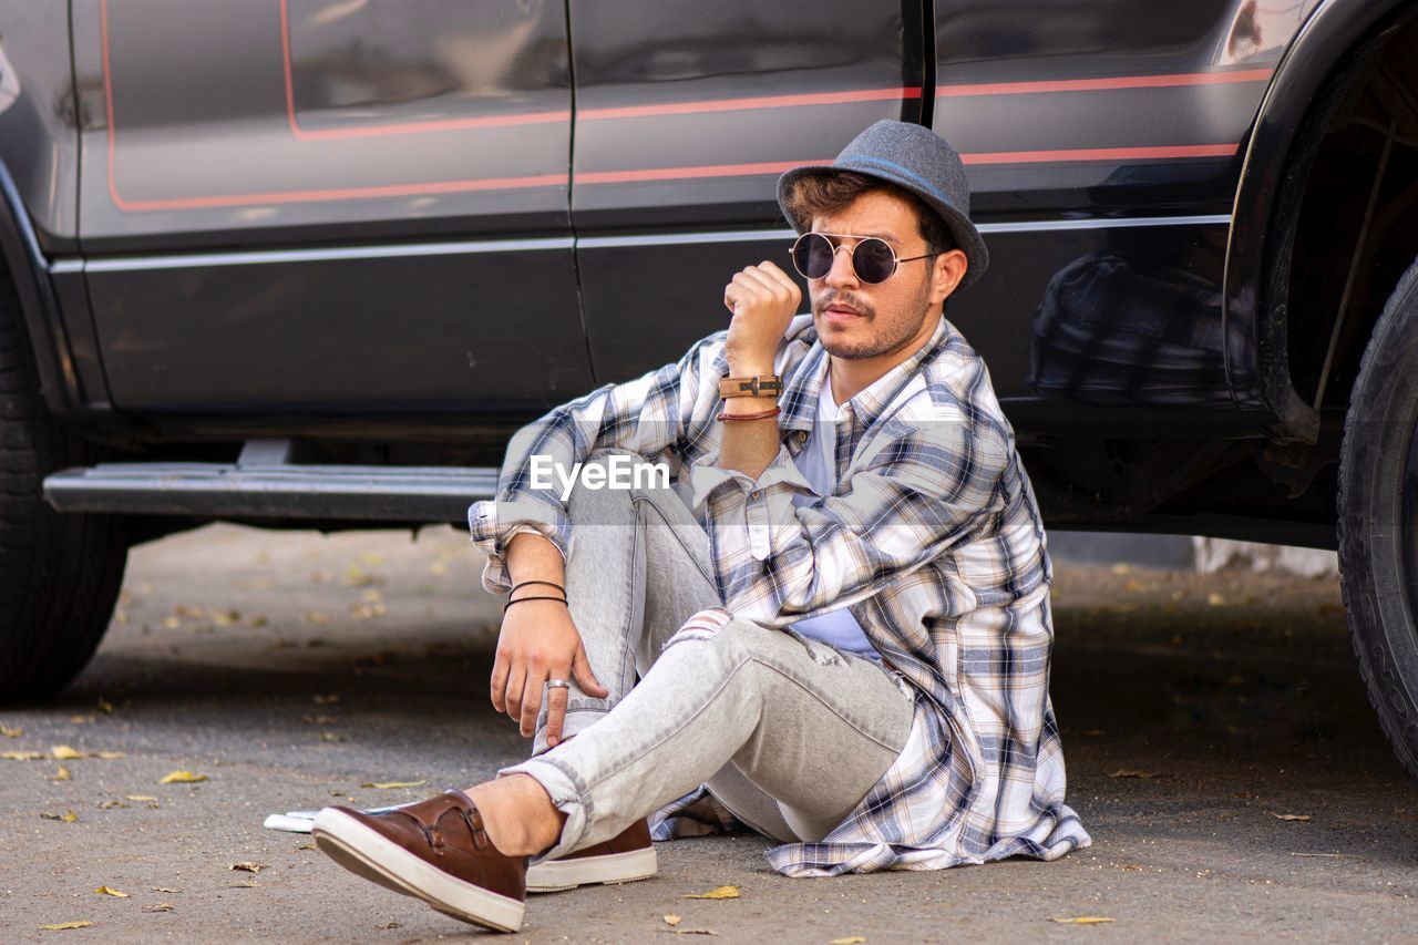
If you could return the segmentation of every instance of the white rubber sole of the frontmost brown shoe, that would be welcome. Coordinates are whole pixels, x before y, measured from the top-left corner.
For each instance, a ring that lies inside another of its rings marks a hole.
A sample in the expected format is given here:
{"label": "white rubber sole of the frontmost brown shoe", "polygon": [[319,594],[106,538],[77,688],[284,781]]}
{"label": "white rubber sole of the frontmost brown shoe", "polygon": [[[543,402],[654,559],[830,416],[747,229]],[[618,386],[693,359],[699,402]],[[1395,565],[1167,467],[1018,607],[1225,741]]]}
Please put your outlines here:
{"label": "white rubber sole of the frontmost brown shoe", "polygon": [[339,810],[316,814],[311,836],[350,873],[417,897],[444,915],[499,932],[522,928],[523,902],[454,878]]}

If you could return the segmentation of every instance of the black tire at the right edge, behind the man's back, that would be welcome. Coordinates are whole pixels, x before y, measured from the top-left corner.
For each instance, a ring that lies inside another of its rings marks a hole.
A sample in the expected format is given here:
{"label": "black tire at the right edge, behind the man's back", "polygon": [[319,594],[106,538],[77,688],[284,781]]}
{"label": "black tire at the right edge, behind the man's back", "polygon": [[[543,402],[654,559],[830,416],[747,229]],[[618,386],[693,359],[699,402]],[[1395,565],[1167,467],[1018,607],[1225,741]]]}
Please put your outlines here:
{"label": "black tire at the right edge, behind the man's back", "polygon": [[1418,262],[1364,350],[1339,468],[1344,612],[1368,700],[1418,779]]}

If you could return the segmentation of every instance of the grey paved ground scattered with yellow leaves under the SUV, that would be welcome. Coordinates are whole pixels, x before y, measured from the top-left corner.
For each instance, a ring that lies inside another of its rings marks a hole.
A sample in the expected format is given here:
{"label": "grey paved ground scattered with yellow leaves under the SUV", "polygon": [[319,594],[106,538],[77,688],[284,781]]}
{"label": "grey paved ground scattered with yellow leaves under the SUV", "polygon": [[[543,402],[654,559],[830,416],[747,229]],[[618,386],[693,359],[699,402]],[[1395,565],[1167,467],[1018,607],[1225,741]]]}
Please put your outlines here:
{"label": "grey paved ground scattered with yellow leaves under the SUV", "polygon": [[[51,705],[0,712],[0,751],[123,753],[0,761],[3,936],[482,935],[261,827],[332,797],[414,800],[520,756],[488,704],[498,604],[479,570],[450,529],[214,526],[136,549],[89,670]],[[1123,570],[1061,568],[1055,595],[1052,692],[1092,849],[786,880],[752,837],[676,841],[655,880],[533,898],[508,941],[664,942],[666,912],[719,941],[1412,941],[1418,790],[1373,721],[1337,586]],[[157,783],[173,770],[207,780]],[[742,897],[679,898],[722,884]],[[1082,915],[1116,921],[1051,921]],[[40,929],[72,921],[94,925]]]}

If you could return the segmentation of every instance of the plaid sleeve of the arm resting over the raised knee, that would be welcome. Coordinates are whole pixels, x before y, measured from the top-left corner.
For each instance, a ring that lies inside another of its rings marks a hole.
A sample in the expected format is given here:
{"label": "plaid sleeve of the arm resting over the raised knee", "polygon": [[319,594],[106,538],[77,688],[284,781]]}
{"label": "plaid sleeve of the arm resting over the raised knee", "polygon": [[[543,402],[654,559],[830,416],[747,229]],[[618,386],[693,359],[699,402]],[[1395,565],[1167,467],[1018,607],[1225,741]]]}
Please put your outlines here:
{"label": "plaid sleeve of the arm resting over the raised knee", "polygon": [[512,436],[498,472],[496,498],[468,508],[472,542],[486,556],[484,589],[510,590],[506,546],[513,535],[536,532],[566,559],[571,522],[560,475],[571,475],[593,450],[618,447],[649,457],[679,441],[696,402],[719,397],[718,380],[700,385],[700,377],[722,376],[726,335],[727,329],[715,332],[695,342],[678,362],[634,380],[597,387]]}

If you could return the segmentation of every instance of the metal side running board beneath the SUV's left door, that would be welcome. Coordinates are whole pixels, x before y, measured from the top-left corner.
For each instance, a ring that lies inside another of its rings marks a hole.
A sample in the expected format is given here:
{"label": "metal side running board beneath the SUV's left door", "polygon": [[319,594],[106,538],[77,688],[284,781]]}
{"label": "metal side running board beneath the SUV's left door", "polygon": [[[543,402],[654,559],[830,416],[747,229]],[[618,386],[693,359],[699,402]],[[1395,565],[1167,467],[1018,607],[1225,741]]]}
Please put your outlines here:
{"label": "metal side running board beneath the SUV's left door", "polygon": [[302,465],[289,441],[251,440],[237,463],[101,463],[54,472],[60,512],[465,525],[498,491],[492,467]]}

